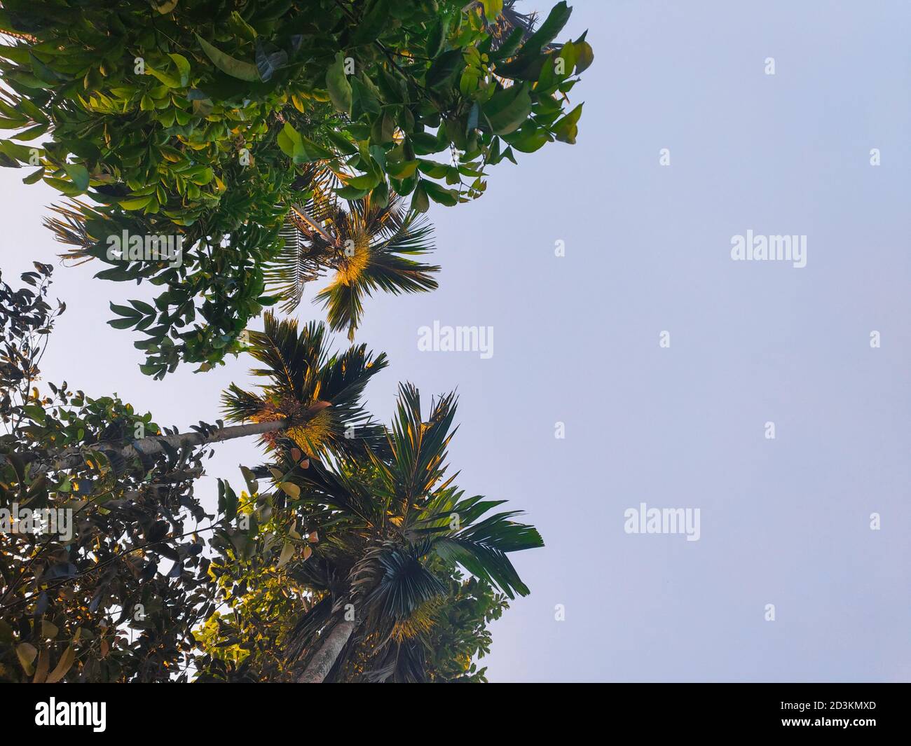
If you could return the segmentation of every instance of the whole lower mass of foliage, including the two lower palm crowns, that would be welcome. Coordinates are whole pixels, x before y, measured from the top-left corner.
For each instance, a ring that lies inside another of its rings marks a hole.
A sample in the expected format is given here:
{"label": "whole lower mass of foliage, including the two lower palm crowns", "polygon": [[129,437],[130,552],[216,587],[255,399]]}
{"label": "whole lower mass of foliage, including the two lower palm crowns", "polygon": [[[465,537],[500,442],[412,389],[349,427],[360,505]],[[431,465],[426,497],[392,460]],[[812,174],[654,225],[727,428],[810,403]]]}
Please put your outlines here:
{"label": "whole lower mass of foliage, including the two lower palm crowns", "polygon": [[[454,396],[425,420],[405,384],[377,424],[361,397],[384,355],[330,353],[321,324],[271,314],[251,335],[262,385],[224,393],[248,424],[178,434],[116,396],[43,395],[63,306],[36,269],[0,281],[0,680],[297,680],[342,619],[317,680],[485,680],[486,625],[528,592],[507,555],[541,539],[446,475]],[[241,467],[240,494],[219,480],[206,515],[210,444],[251,435],[270,463]]]}

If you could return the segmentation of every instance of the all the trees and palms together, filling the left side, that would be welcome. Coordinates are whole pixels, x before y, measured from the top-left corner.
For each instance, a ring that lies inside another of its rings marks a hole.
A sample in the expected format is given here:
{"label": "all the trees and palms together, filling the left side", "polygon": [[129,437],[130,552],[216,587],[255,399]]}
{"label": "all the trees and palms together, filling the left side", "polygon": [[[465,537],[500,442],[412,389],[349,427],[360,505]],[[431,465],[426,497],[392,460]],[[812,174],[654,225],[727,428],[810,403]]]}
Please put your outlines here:
{"label": "all the trees and palms together, filling the left side", "polygon": [[[388,361],[353,338],[375,292],[436,288],[431,204],[575,142],[593,52],[559,39],[570,12],[3,3],[0,166],[61,196],[67,260],[157,289],[110,303],[142,373],[250,353],[258,385],[181,432],[46,381],[52,268],[0,274],[0,680],[486,680],[487,625],[529,592],[510,556],[542,539],[455,485],[454,393],[400,383],[374,418]],[[276,315],[320,279],[325,323]],[[265,462],[207,512],[204,462],[233,438]]]}

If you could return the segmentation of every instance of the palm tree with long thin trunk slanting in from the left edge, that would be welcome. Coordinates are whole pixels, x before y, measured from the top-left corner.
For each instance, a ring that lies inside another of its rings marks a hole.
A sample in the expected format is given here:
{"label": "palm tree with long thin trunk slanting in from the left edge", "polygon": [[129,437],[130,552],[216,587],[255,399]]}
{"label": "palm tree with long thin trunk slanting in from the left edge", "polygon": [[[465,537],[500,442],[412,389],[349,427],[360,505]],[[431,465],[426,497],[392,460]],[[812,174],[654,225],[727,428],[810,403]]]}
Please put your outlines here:
{"label": "palm tree with long thin trunk slanting in from the left edge", "polygon": [[[246,424],[213,427],[200,423],[191,433],[0,455],[0,462],[9,459],[23,466],[31,464],[32,475],[38,475],[80,468],[85,464],[86,448],[106,455],[112,464],[134,459],[148,463],[149,458],[170,449],[251,435],[261,435],[266,445],[280,438],[290,439],[313,456],[322,455],[328,448],[353,455],[382,437],[383,428],[364,410],[361,395],[367,382],[386,366],[385,353],[374,358],[361,344],[341,354],[330,354],[322,323],[309,323],[299,332],[297,322],[278,322],[270,312],[265,314],[264,331],[250,332],[250,339],[250,353],[266,366],[252,373],[269,376],[271,383],[256,393],[232,383],[222,396],[227,419]],[[352,437],[354,433],[357,437]]]}

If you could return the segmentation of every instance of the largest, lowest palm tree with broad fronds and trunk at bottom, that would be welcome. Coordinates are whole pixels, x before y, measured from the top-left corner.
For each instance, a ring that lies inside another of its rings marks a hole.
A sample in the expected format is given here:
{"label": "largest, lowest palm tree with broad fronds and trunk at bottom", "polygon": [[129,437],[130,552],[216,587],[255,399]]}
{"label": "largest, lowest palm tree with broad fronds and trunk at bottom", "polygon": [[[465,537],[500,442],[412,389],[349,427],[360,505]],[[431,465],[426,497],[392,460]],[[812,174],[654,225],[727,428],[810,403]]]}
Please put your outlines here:
{"label": "largest, lowest palm tree with broad fronds and trunk at bottom", "polygon": [[422,680],[422,638],[446,592],[441,564],[464,567],[509,598],[527,595],[507,555],[543,542],[533,526],[511,520],[518,511],[483,517],[504,501],[466,497],[446,476],[455,407],[450,393],[432,402],[424,422],[420,394],[400,385],[386,455],[370,449],[366,462],[305,469],[280,463],[302,506],[331,526],[298,570],[318,598],[291,635],[289,658],[305,664],[299,681],[336,678],[358,646],[370,650],[367,679]]}

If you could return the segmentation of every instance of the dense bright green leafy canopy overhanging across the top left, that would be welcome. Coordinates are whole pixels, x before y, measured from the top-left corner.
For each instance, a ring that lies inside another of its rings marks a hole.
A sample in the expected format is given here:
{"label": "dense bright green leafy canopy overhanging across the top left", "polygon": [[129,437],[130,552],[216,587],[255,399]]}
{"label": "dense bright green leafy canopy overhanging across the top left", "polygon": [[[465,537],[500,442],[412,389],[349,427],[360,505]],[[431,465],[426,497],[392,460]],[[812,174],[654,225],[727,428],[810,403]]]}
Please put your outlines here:
{"label": "dense bright green leafy canopy overhanging across the top left", "polygon": [[[569,13],[559,2],[533,30],[502,0],[8,0],[0,164],[74,198],[52,225],[72,256],[110,265],[99,277],[163,288],[114,307],[113,325],[146,335],[144,373],[240,352],[308,267],[337,272],[323,300],[353,332],[369,291],[433,287],[402,257],[427,247],[346,245],[308,212],[314,181],[338,225],[357,200],[475,199],[503,158],[574,142],[567,94],[592,51],[584,35],[553,44]],[[326,241],[322,261],[289,256],[289,220]],[[182,253],[112,252],[119,237],[179,238]]]}

